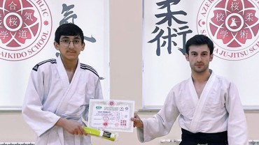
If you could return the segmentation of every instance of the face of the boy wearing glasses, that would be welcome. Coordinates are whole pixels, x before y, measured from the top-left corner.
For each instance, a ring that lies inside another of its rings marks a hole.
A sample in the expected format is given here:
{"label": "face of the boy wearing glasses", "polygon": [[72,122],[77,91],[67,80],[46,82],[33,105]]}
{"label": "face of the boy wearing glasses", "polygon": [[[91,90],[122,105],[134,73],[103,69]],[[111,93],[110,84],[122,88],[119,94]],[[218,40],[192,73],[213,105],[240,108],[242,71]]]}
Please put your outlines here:
{"label": "face of the boy wearing glasses", "polygon": [[54,46],[59,50],[62,59],[73,61],[78,59],[78,55],[85,48],[85,43],[79,36],[61,36],[59,44],[54,42]]}

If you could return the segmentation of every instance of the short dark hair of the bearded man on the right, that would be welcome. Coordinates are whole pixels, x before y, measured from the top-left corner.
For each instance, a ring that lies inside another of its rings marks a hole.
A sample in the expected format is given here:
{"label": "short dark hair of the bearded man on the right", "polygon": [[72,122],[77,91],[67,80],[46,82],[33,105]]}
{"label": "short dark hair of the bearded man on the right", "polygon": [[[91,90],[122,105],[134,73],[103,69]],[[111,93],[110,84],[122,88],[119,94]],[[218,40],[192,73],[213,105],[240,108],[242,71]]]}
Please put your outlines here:
{"label": "short dark hair of the bearded man on the right", "polygon": [[204,35],[195,35],[186,42],[186,53],[189,54],[190,45],[208,45],[209,53],[213,54],[214,43],[212,40]]}

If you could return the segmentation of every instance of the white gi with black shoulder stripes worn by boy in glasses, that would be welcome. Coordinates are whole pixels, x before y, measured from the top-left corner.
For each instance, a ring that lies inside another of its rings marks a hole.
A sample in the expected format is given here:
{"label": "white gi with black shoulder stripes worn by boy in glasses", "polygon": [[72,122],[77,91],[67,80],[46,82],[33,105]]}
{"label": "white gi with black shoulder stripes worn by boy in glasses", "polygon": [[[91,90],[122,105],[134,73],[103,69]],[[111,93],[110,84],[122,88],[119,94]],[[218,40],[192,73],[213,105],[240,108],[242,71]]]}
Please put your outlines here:
{"label": "white gi with black shoulder stripes worn by boy in glasses", "polygon": [[90,99],[103,99],[97,72],[78,61],[71,83],[60,56],[38,63],[29,77],[22,116],[37,145],[90,145],[90,135],[71,135],[55,126],[60,117],[87,121]]}

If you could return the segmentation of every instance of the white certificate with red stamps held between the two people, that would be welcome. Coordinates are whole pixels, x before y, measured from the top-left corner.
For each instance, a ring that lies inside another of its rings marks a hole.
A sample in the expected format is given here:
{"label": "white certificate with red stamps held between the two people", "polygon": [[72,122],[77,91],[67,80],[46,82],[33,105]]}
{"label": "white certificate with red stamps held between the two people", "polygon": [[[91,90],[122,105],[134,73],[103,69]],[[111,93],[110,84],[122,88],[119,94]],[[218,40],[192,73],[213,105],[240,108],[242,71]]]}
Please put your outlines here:
{"label": "white certificate with red stamps held between the two people", "polygon": [[134,101],[90,99],[88,127],[133,132]]}

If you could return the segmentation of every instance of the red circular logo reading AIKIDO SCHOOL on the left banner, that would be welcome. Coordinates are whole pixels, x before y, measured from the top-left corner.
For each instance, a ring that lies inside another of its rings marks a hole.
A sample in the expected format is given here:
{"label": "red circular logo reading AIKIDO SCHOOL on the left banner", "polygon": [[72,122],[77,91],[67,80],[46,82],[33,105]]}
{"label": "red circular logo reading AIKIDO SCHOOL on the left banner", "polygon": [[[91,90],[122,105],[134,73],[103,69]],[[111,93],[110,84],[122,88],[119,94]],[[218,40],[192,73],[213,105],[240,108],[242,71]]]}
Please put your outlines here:
{"label": "red circular logo reading AIKIDO SCHOOL on the left banner", "polygon": [[51,13],[45,1],[0,2],[0,59],[21,61],[43,49],[52,31]]}

